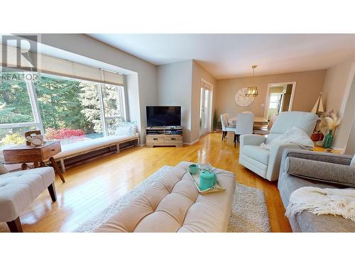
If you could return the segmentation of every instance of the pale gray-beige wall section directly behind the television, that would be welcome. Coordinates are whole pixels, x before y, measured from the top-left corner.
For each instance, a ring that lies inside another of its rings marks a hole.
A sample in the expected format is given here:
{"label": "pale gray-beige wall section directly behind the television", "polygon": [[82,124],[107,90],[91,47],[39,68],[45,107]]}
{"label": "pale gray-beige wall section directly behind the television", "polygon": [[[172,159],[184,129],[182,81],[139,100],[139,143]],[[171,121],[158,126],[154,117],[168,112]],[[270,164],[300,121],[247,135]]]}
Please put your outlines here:
{"label": "pale gray-beige wall section directly behind the television", "polygon": [[192,60],[158,66],[158,104],[181,106],[183,141],[191,142]]}

